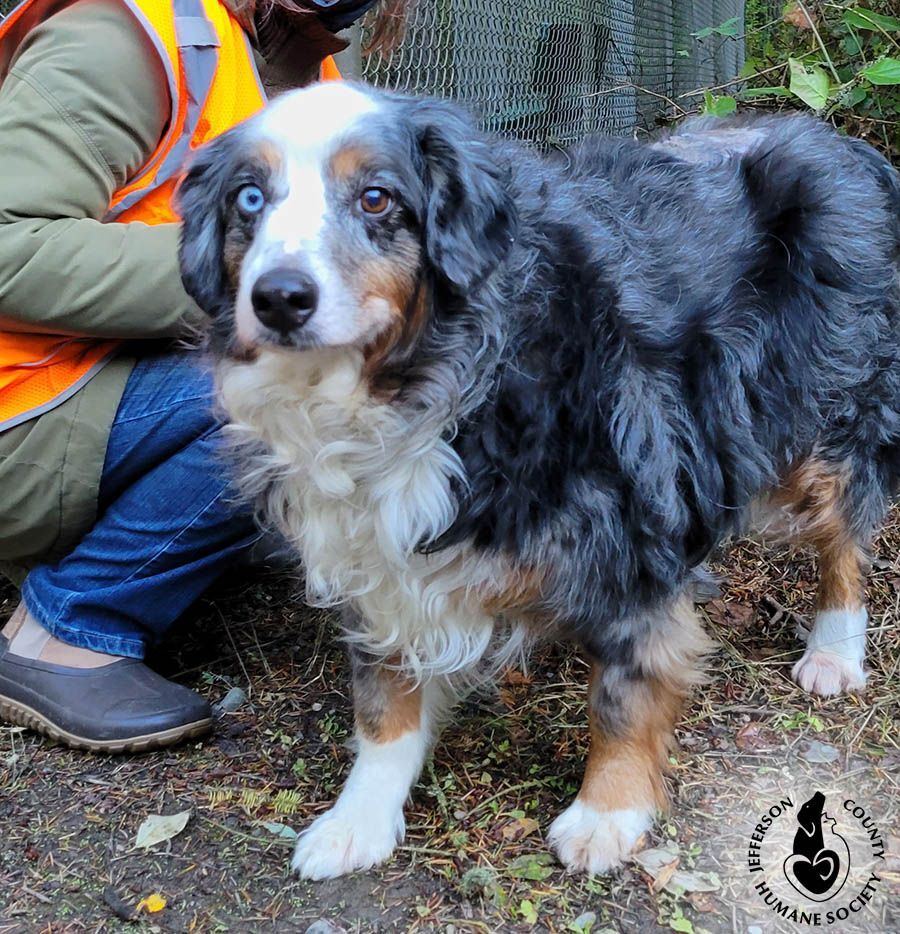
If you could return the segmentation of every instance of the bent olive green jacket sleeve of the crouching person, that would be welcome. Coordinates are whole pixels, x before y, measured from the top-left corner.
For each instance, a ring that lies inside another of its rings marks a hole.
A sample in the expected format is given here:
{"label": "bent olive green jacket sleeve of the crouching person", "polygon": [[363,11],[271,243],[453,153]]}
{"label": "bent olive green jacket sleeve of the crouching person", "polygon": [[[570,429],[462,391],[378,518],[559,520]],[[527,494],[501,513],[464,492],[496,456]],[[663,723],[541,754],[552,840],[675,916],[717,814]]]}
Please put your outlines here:
{"label": "bent olive green jacket sleeve of the crouching person", "polygon": [[0,85],[0,328],[155,338],[202,321],[176,224],[100,222],[169,110],[123,4],[73,4],[28,35]]}

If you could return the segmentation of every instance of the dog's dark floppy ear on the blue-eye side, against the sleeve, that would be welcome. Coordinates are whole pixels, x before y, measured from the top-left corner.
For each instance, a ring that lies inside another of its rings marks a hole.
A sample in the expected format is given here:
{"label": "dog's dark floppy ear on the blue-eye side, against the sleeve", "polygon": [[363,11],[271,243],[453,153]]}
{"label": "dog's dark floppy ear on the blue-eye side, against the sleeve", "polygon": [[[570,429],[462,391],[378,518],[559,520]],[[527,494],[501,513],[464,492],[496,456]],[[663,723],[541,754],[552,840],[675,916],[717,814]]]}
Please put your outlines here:
{"label": "dog's dark floppy ear on the blue-eye side, against the sleeve", "polygon": [[196,153],[176,193],[182,218],[181,281],[188,295],[213,317],[229,301],[223,256],[225,188],[233,150],[229,137],[226,133]]}

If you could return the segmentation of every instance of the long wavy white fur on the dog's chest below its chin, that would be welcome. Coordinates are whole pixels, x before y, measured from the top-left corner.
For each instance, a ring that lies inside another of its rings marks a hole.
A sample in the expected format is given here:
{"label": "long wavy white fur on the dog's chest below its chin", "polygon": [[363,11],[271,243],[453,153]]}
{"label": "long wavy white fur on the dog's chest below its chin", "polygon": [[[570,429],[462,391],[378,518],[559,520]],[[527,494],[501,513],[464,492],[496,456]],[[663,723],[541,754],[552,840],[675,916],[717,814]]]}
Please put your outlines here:
{"label": "long wavy white fur on the dog's chest below its chin", "polygon": [[297,548],[310,602],[349,600],[365,617],[349,638],[420,677],[460,671],[490,643],[481,605],[501,562],[466,546],[416,553],[453,521],[462,465],[447,423],[373,399],[362,362],[319,351],[220,364],[241,480]]}

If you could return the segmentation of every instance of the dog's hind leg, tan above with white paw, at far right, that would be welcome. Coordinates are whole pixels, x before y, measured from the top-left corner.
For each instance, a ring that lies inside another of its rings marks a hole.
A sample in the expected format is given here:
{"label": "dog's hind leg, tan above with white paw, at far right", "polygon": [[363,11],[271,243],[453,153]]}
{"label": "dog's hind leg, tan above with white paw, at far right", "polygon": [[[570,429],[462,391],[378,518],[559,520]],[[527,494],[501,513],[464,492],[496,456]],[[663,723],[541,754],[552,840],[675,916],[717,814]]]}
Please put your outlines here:
{"label": "dog's hind leg, tan above with white paw, at far right", "polygon": [[[861,517],[853,522],[851,516],[883,508],[880,491],[870,486],[854,480],[846,465],[810,459],[787,478],[779,493],[790,497],[797,538],[811,544],[819,556],[816,618],[792,675],[805,691],[822,697],[859,690],[866,683],[866,543],[871,521]],[[862,509],[854,508],[861,489],[868,495]]]}

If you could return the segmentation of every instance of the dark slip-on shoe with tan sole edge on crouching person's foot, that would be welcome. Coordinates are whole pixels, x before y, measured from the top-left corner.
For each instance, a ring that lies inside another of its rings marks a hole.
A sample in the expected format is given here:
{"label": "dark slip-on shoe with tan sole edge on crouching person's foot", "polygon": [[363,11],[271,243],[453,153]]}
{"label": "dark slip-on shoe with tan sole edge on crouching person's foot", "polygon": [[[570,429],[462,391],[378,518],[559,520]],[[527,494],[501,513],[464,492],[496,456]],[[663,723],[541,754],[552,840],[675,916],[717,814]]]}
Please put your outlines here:
{"label": "dark slip-on shoe with tan sole edge on crouching person's foot", "polygon": [[203,736],[212,711],[137,659],[68,668],[13,655],[0,635],[0,720],[73,749],[143,752]]}

